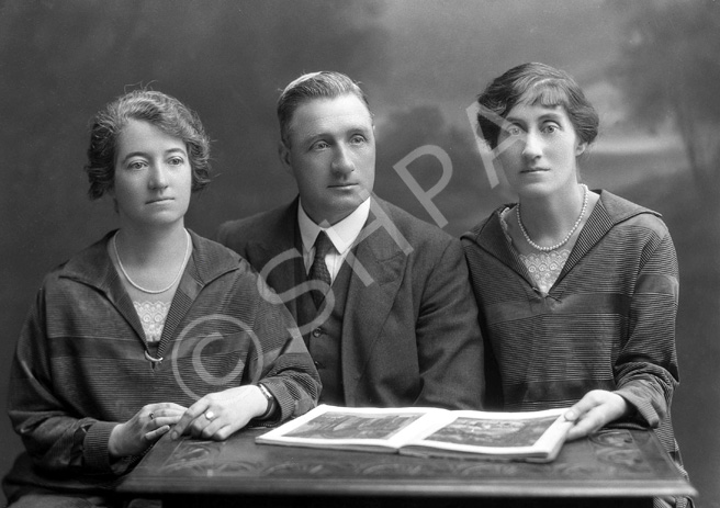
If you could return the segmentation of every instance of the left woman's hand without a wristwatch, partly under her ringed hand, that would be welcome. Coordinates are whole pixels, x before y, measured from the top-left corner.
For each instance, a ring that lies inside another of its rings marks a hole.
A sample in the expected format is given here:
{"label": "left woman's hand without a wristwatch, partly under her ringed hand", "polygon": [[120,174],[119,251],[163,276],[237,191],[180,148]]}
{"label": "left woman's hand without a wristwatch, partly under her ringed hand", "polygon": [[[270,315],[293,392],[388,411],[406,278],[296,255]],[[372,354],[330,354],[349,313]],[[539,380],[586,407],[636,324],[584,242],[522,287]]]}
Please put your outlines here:
{"label": "left woman's hand without a wristwatch, partly under her ringed hand", "polygon": [[180,420],[185,408],[175,403],[148,404],[130,420],[115,426],[108,450],[113,459],[143,453]]}

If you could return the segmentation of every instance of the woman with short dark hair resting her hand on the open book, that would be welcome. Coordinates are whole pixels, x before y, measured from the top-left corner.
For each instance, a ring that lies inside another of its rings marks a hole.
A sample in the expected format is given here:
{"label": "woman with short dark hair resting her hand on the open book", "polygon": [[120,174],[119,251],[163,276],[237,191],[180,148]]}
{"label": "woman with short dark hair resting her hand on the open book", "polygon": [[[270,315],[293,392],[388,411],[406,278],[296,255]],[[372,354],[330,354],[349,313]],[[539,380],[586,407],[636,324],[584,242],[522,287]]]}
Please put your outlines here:
{"label": "woman with short dark hair resting her hand on the open book", "polygon": [[520,65],[477,102],[481,135],[518,195],[462,237],[486,341],[486,407],[570,407],[570,439],[609,424],[653,428],[682,469],[667,227],[581,183],[598,115],[566,72]]}

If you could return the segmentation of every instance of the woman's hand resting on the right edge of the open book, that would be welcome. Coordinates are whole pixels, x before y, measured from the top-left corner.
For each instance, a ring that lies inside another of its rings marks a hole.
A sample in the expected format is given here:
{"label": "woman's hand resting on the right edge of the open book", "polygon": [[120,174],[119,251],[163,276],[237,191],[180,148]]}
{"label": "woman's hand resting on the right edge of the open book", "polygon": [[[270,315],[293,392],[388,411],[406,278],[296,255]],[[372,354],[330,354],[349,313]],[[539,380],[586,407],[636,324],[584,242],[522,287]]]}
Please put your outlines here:
{"label": "woman's hand resting on the right edge of the open book", "polygon": [[630,406],[625,398],[605,390],[593,390],[565,413],[567,421],[575,425],[567,432],[567,440],[583,438],[610,421],[627,415]]}

